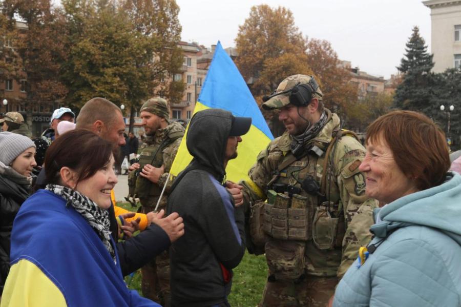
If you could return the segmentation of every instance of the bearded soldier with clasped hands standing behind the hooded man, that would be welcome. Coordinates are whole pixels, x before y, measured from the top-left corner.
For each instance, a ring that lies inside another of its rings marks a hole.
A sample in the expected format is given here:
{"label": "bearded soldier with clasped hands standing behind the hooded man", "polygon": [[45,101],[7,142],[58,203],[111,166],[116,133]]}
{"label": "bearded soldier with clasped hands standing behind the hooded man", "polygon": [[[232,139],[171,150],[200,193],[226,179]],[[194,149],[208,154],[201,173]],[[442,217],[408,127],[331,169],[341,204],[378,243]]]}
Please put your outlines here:
{"label": "bearded soldier with clasped hands standing behind the hooded man", "polygon": [[[157,201],[184,135],[184,127],[170,121],[170,107],[163,98],[151,98],[141,107],[146,146],[142,148],[139,163],[130,167],[130,194],[139,198],[143,213],[155,209]],[[171,186],[170,178],[168,186]],[[133,191],[134,188],[134,191]],[[168,189],[166,189],[166,192]],[[163,196],[158,210],[165,209]],[[164,306],[170,305],[170,259],[165,251],[141,268],[142,294]],[[158,291],[159,290],[159,291]],[[161,297],[157,294],[160,292]]]}

